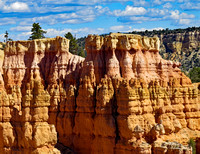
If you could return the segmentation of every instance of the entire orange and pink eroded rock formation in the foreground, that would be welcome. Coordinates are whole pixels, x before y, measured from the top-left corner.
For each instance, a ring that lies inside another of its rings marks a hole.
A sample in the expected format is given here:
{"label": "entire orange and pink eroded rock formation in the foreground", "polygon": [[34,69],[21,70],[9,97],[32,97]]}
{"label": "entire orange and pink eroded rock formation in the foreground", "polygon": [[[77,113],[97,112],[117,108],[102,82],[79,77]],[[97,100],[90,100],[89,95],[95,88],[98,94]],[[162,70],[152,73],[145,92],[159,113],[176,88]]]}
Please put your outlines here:
{"label": "entire orange and pink eroded rock formation in the foreground", "polygon": [[60,143],[77,153],[191,153],[166,140],[200,137],[200,85],[163,60],[159,46],[139,35],[89,35],[83,59],[61,37],[8,42],[0,148],[58,153]]}

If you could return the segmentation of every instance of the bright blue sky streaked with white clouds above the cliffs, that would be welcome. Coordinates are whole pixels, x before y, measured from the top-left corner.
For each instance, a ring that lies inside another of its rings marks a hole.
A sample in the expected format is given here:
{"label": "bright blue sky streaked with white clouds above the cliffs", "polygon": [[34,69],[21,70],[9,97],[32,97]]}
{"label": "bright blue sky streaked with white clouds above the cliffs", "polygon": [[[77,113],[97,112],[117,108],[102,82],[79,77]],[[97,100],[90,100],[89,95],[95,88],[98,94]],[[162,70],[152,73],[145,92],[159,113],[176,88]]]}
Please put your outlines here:
{"label": "bright blue sky streaked with white clouds above the cliffs", "polygon": [[0,0],[0,41],[26,40],[39,22],[46,37],[200,26],[200,0]]}

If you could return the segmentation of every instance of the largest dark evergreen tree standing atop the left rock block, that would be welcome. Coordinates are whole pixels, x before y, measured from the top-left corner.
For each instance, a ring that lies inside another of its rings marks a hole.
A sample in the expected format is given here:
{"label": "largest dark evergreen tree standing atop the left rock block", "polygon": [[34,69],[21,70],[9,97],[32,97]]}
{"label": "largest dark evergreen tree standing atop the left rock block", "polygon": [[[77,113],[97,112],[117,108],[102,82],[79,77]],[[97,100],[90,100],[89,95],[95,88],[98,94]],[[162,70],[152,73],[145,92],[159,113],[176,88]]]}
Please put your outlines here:
{"label": "largest dark evergreen tree standing atop the left rock block", "polygon": [[46,31],[42,30],[39,23],[33,23],[31,32],[32,34],[29,37],[29,40],[45,38],[44,34],[46,33]]}

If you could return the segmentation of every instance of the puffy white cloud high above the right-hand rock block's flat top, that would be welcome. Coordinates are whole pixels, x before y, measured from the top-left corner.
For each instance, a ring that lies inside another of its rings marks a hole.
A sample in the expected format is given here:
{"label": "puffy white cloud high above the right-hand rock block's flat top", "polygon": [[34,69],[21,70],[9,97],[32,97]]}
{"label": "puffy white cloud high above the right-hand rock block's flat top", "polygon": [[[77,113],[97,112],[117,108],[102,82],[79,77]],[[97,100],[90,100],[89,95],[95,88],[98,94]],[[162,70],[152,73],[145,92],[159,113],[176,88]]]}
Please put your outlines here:
{"label": "puffy white cloud high above the right-hand rock block's flat top", "polygon": [[132,7],[127,5],[124,11],[114,10],[113,15],[115,16],[133,16],[133,15],[144,15],[146,13],[146,9],[144,7]]}

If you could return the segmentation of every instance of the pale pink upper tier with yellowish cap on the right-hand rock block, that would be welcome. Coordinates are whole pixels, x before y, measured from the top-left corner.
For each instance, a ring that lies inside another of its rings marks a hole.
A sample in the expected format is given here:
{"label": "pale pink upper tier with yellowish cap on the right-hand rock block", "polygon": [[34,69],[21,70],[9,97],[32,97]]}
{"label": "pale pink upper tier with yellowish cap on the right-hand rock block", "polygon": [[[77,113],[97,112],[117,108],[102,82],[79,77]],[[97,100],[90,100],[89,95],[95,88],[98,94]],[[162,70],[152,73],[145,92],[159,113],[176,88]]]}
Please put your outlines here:
{"label": "pale pink upper tier with yellowish cap on the right-hand rock block", "polygon": [[159,55],[160,41],[157,37],[113,33],[106,36],[89,35],[86,38],[87,57],[84,72],[94,70],[97,83],[107,75],[111,78],[144,79],[169,82],[179,78],[184,84],[190,80],[178,69],[180,63],[166,61]]}

